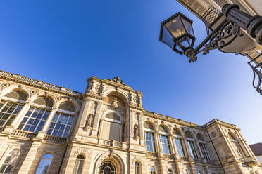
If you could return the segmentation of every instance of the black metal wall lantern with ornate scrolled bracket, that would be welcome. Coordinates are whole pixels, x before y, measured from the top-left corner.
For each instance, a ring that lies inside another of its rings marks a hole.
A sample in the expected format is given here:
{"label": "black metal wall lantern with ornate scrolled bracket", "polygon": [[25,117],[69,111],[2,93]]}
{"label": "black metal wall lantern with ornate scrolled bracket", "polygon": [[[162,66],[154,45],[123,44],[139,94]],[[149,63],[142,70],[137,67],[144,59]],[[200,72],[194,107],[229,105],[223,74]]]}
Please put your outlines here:
{"label": "black metal wall lantern with ornate scrolled bracket", "polygon": [[[256,39],[259,45],[262,45],[262,16],[251,16],[240,11],[239,6],[235,4],[226,4],[222,8],[222,12],[223,13],[208,26],[211,33],[208,34],[206,39],[196,46],[196,48],[194,48],[196,38],[192,27],[193,22],[181,13],[176,13],[161,22],[159,40],[172,48],[173,51],[187,56],[189,62],[195,62],[197,55],[201,52],[206,55],[211,50],[219,49],[222,51],[224,47],[230,46],[235,39],[243,36],[241,28],[246,30],[249,36]],[[235,53],[234,51],[230,52]],[[255,80],[253,80],[253,86],[256,88],[256,91],[262,95],[262,70],[259,71],[257,69],[262,66],[262,63],[261,65],[253,66],[251,62],[254,62],[254,60],[249,62],[249,65],[254,71],[254,79],[256,76],[258,77],[258,84],[254,84]]]}

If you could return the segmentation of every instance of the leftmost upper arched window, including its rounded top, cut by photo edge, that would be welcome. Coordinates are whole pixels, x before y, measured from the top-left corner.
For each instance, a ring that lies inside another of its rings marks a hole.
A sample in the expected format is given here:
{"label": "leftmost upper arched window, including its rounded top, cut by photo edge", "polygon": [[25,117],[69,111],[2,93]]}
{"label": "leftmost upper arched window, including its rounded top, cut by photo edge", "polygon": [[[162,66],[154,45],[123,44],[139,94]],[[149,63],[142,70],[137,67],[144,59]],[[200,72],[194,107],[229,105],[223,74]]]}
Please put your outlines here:
{"label": "leftmost upper arched window, including its rounded top, cut by photo edge", "polygon": [[7,93],[0,102],[0,127],[11,125],[13,119],[23,108],[27,95],[22,91]]}

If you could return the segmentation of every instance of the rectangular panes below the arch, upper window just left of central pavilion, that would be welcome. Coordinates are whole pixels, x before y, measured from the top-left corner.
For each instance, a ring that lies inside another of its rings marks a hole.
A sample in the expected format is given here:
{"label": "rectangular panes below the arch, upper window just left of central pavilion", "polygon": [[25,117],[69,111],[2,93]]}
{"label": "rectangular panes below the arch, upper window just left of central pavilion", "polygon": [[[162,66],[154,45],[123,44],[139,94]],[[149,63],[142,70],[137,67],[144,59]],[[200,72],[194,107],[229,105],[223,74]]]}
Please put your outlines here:
{"label": "rectangular panes below the arch, upper window just left of central pavilion", "polygon": [[56,112],[46,134],[66,138],[73,123],[73,116]]}

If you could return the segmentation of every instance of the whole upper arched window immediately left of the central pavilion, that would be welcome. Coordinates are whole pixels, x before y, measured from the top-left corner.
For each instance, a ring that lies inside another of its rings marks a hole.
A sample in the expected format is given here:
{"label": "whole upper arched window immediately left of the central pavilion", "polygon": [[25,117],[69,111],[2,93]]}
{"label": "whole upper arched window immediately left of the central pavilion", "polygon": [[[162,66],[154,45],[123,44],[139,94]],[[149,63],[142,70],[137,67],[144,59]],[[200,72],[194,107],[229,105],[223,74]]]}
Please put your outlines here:
{"label": "whole upper arched window immediately left of the central pavilion", "polygon": [[66,138],[73,123],[75,107],[68,102],[58,107],[46,134]]}

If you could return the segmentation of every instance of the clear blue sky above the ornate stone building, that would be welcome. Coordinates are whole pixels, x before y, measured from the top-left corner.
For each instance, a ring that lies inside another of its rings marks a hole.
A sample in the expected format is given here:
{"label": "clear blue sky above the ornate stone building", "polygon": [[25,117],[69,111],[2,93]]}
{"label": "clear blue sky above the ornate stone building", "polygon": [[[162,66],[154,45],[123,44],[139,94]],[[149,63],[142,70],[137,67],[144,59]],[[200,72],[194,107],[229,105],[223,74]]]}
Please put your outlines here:
{"label": "clear blue sky above the ornate stone building", "polygon": [[199,43],[204,24],[175,0],[1,1],[0,68],[80,92],[90,76],[120,76],[149,111],[220,119],[262,142],[262,96],[247,58],[213,51],[189,64],[158,41],[161,21],[178,11],[194,20]]}

